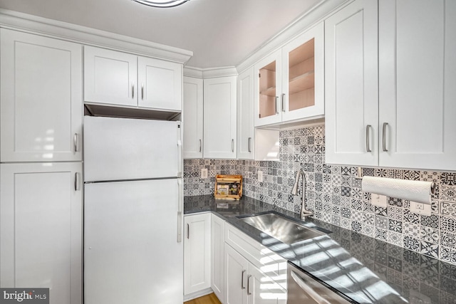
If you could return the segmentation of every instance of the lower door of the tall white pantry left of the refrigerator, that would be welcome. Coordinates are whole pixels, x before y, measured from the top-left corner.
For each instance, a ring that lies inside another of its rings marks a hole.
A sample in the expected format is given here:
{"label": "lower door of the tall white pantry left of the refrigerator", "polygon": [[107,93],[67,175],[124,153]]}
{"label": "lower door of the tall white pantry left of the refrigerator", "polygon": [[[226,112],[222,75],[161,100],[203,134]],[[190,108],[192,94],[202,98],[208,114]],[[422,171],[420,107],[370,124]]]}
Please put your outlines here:
{"label": "lower door of the tall white pantry left of the refrigerator", "polygon": [[51,304],[82,303],[82,164],[0,171],[1,287],[50,288]]}

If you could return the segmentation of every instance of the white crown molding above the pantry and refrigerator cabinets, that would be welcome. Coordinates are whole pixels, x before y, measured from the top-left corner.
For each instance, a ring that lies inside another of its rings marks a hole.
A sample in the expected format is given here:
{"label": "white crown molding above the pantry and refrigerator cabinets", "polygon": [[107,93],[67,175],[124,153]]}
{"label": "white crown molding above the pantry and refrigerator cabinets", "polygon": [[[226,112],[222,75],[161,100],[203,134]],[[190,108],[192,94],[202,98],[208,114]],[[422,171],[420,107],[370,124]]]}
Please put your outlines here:
{"label": "white crown molding above the pantry and refrigerator cabinets", "polygon": [[182,64],[187,63],[193,56],[192,51],[182,48],[165,46],[160,43],[6,9],[0,9],[0,27],[38,33],[43,36],[61,38],[90,46],[111,48]]}

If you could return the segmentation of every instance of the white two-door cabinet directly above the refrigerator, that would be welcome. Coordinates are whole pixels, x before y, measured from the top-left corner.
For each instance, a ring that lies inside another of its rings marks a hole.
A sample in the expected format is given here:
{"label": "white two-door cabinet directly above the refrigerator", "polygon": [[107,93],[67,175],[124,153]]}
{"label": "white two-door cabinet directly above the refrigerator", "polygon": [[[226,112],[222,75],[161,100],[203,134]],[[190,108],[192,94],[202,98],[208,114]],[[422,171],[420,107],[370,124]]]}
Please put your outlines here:
{"label": "white two-door cabinet directly above the refrigerator", "polygon": [[84,100],[180,111],[182,65],[84,46]]}

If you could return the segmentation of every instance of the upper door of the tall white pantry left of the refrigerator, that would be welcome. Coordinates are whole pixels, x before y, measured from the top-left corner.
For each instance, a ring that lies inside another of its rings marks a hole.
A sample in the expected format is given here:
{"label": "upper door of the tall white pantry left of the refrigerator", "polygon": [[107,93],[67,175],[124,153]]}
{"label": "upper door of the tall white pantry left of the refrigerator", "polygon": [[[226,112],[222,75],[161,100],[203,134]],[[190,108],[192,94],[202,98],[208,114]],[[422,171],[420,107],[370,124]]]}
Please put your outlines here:
{"label": "upper door of the tall white pantry left of the refrigerator", "polygon": [[82,46],[1,34],[1,162],[81,161]]}

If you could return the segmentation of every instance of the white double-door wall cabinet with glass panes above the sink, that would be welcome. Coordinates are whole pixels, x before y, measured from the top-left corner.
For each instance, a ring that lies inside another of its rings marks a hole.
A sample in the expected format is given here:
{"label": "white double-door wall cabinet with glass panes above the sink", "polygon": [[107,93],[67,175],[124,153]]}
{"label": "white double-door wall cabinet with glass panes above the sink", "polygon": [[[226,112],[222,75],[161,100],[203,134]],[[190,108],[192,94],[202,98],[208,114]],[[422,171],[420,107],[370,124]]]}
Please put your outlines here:
{"label": "white double-door wall cabinet with glass panes above the sink", "polygon": [[255,127],[324,115],[323,23],[255,65]]}

